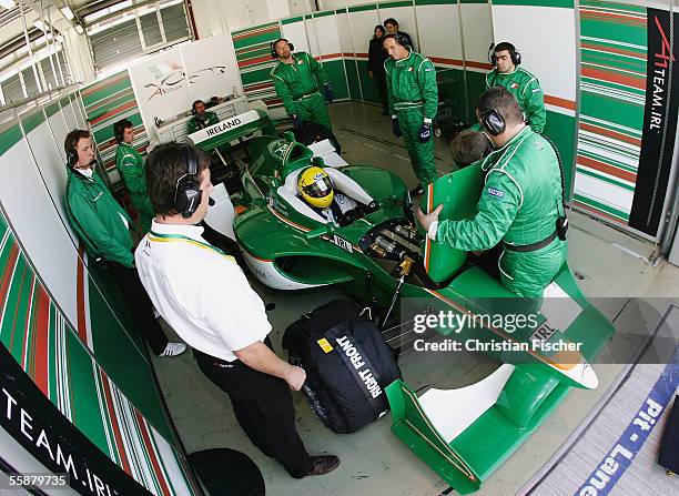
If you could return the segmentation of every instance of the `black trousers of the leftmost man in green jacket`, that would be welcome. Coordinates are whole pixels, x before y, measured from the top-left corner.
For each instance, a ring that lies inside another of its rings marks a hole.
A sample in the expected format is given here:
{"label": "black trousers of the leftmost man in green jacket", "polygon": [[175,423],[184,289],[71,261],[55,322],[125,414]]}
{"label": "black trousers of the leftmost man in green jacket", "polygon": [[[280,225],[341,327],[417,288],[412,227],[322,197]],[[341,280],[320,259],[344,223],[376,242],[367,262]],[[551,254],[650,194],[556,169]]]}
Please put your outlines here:
{"label": "black trousers of the leftmost man in green jacket", "polygon": [[168,337],[153,316],[153,304],[139,280],[136,270],[118,262],[107,261],[105,264],[107,270],[122,292],[134,325],[136,325],[143,338],[146,340],[153,353],[160,355],[168,346]]}

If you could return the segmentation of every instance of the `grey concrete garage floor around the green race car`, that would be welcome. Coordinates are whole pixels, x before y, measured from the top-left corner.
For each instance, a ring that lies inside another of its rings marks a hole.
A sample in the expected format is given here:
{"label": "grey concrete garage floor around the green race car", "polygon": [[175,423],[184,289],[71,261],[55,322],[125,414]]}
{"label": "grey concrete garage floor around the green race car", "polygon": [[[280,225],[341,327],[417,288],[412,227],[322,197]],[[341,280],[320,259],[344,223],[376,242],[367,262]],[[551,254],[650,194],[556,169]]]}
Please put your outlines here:
{"label": "grey concrete garage floor around the green race car", "polygon": [[[377,107],[337,103],[331,109],[343,156],[353,164],[382,165],[415,185],[407,153],[391,134],[387,117]],[[449,172],[447,144],[436,145],[437,168]],[[585,294],[619,327],[605,356],[617,363],[597,365],[599,387],[572,391],[547,422],[484,484],[480,495],[558,494],[529,484],[559,451],[614,384],[629,355],[643,343],[645,330],[655,328],[670,301],[679,302],[679,269],[661,262],[653,266],[655,245],[636,240],[577,212],[570,214],[569,261]],[[285,327],[302,313],[342,297],[333,289],[300,293],[275,293],[253,283],[270,312],[272,341],[280,356]],[[636,297],[645,297],[639,302]],[[625,332],[627,331],[627,332]],[[675,338],[679,331],[673,332]],[[172,333],[171,333],[172,334]],[[459,387],[479,381],[495,365],[479,356],[456,357],[411,353],[399,362],[404,379],[414,389],[433,386]],[[154,358],[154,366],[170,413],[189,453],[230,447],[246,453],[261,468],[267,494],[275,496],[318,495],[417,495],[450,494],[448,486],[417,459],[389,431],[391,416],[357,434],[336,435],[311,412],[301,393],[294,393],[297,426],[310,454],[336,454],[342,465],[323,477],[295,480],[271,458],[262,455],[236,424],[230,401],[197,370],[192,355],[173,360]],[[615,401],[615,399],[614,399]],[[454,494],[454,493],[453,493]],[[614,493],[615,494],[615,493]]]}

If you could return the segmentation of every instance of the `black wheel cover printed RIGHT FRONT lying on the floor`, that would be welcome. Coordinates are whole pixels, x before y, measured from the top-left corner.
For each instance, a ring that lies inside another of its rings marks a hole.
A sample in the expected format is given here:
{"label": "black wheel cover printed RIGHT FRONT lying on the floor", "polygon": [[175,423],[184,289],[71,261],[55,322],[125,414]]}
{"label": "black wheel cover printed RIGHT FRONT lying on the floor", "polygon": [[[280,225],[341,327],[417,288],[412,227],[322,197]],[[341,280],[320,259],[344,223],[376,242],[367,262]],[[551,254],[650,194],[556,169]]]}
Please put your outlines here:
{"label": "black wheel cover printed RIGHT FRONT lying on the floor", "polygon": [[401,378],[394,353],[358,311],[351,301],[335,300],[292,323],[283,336],[290,362],[306,371],[302,391],[314,414],[337,434],[384,415],[384,389]]}

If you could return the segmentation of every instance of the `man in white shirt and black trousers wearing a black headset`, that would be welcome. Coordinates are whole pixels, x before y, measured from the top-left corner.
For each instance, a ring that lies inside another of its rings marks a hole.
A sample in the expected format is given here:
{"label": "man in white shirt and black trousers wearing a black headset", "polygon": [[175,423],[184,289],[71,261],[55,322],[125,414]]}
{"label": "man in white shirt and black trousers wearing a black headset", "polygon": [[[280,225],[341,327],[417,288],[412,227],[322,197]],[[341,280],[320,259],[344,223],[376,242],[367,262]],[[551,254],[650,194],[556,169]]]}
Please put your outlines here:
{"label": "man in white shirt and black trousers wearing a black headset", "polygon": [[196,226],[207,212],[209,158],[179,143],[146,159],[146,188],[155,211],[151,232],[134,254],[155,308],[191,347],[205,376],[222,388],[247,437],[295,478],[323,475],[336,456],[310,456],[295,428],[290,389],[306,378],[271,350],[264,304],[233,257],[209,244]]}

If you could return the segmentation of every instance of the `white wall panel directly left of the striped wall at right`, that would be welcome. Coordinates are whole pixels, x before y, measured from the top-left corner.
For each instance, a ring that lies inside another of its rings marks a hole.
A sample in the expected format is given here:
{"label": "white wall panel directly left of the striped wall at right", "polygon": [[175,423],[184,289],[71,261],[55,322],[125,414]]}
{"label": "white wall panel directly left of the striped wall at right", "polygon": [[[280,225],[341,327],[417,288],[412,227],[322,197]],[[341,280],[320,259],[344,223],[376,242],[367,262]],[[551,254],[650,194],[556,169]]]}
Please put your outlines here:
{"label": "white wall panel directly left of the striped wall at right", "polygon": [[546,95],[576,100],[578,43],[572,9],[493,6],[493,22],[495,41],[514,43],[524,67],[540,80]]}

